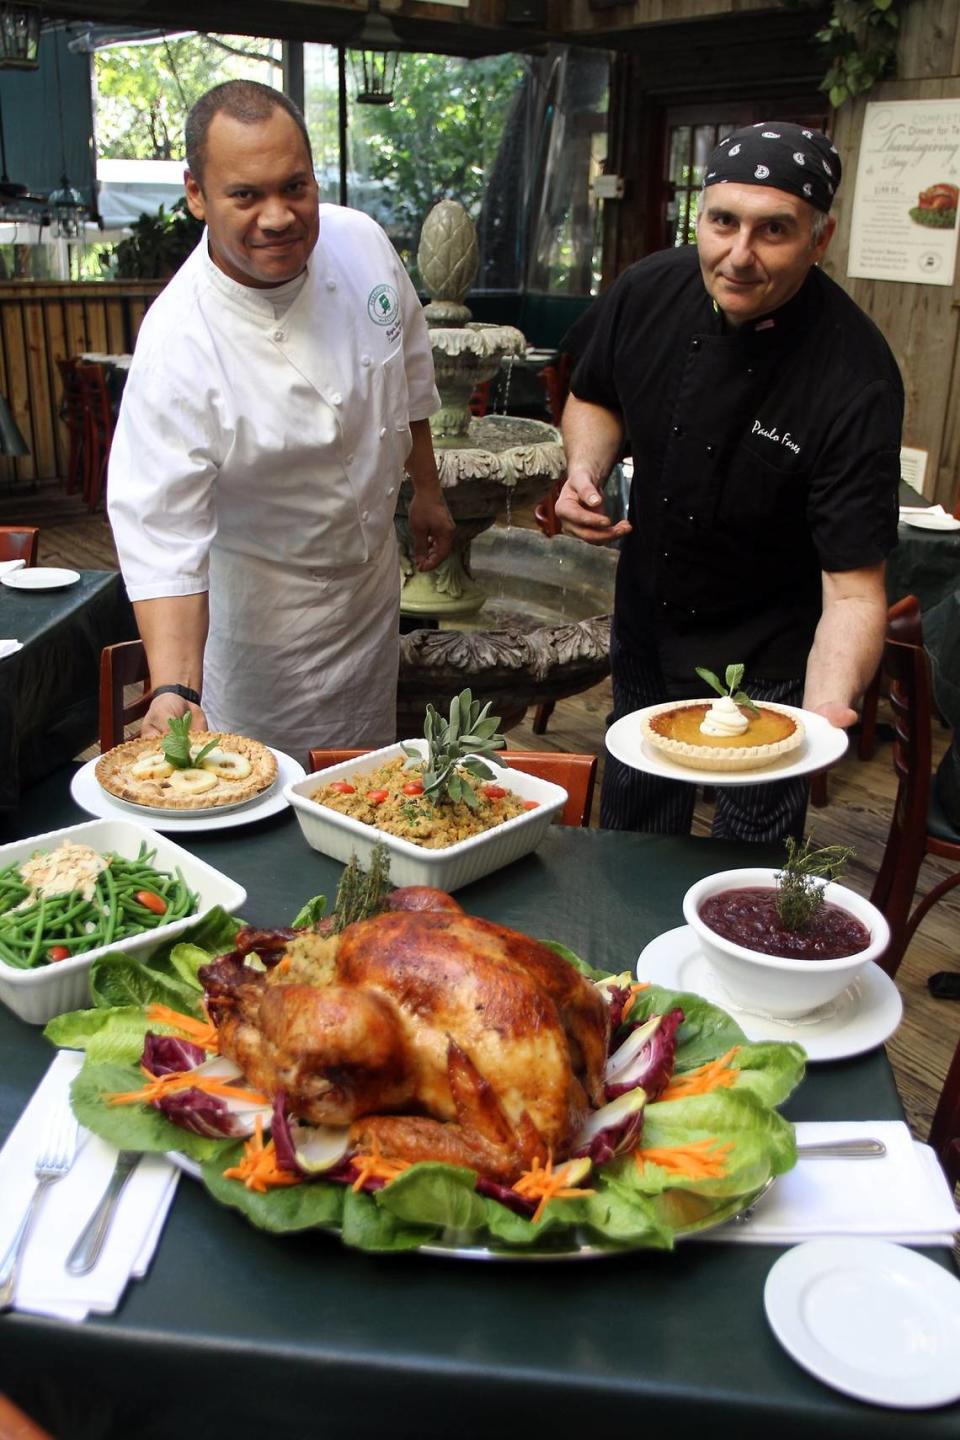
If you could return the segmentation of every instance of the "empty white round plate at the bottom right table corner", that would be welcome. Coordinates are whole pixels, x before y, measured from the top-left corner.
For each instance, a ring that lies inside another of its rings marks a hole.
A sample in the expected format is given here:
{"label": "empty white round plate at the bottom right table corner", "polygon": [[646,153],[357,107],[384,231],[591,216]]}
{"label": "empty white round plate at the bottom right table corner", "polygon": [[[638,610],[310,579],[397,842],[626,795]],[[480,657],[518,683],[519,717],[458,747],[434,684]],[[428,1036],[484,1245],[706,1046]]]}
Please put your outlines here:
{"label": "empty white round plate at the bottom right table corner", "polygon": [[810,1240],[763,1290],[787,1355],[825,1384],[895,1410],[960,1398],[960,1280],[887,1240]]}

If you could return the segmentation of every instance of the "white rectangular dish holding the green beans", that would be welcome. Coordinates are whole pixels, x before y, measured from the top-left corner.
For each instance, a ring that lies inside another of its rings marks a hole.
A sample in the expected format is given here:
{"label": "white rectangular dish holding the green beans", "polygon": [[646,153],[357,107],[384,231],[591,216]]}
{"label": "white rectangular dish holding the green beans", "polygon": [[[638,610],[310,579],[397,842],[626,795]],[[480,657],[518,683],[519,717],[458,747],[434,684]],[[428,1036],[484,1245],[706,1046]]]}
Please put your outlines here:
{"label": "white rectangular dish holding the green beans", "polygon": [[52,829],[46,835],[0,845],[0,868],[17,860],[27,860],[37,850],[55,850],[63,841],[89,845],[99,854],[115,851],[124,860],[132,860],[140,851],[141,841],[145,842],[148,850],[155,850],[153,864],[157,870],[180,867],[183,878],[197,893],[197,910],[196,914],[171,920],[170,924],[158,924],[154,930],[144,930],[142,935],[131,935],[114,945],[101,945],[85,955],[72,955],[66,960],[42,965],[33,971],[20,971],[0,960],[0,999],[14,1015],[32,1025],[43,1025],[55,1015],[62,1015],[66,1009],[82,1009],[89,1002],[89,969],[98,955],[121,950],[144,960],[158,946],[189,930],[214,906],[223,906],[233,913],[246,900],[243,886],[203,860],[197,860],[166,835],[158,835],[155,829],[148,829],[132,819],[89,819],[81,825],[68,825],[65,829]]}

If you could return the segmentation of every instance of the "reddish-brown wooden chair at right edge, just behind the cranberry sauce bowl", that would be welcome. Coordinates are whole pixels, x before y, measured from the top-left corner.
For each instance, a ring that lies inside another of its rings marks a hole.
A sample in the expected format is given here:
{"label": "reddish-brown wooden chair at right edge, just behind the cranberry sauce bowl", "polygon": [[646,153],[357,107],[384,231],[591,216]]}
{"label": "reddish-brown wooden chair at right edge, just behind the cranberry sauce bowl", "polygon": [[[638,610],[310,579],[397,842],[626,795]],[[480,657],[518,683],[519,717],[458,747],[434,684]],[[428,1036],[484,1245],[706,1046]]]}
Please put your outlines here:
{"label": "reddish-brown wooden chair at right edge, just behind the cranberry sauce bowl", "polygon": [[[884,678],[894,711],[894,769],[900,776],[887,848],[871,900],[887,916],[889,950],[881,960],[894,975],[927,912],[960,884],[960,868],[947,876],[914,906],[920,867],[927,855],[960,864],[960,831],[944,815],[931,786],[931,685],[930,658],[923,648],[920,605],[904,605],[897,622],[900,639],[888,636],[884,647]],[[902,639],[914,635],[914,642]]]}

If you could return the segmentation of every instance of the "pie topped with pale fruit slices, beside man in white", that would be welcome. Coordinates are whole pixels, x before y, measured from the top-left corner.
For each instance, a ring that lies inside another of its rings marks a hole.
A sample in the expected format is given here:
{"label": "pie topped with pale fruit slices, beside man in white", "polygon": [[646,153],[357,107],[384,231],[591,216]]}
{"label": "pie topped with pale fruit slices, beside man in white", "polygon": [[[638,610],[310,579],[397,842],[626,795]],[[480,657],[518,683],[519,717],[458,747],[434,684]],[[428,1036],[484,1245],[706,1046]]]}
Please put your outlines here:
{"label": "pie topped with pale fruit slices, beside man in white", "polygon": [[[213,749],[200,756],[212,742]],[[96,779],[108,795],[151,809],[199,811],[242,805],[276,780],[276,757],[243,734],[190,732],[190,753],[199,763],[171,765],[155,736],[127,740],[96,762]]]}

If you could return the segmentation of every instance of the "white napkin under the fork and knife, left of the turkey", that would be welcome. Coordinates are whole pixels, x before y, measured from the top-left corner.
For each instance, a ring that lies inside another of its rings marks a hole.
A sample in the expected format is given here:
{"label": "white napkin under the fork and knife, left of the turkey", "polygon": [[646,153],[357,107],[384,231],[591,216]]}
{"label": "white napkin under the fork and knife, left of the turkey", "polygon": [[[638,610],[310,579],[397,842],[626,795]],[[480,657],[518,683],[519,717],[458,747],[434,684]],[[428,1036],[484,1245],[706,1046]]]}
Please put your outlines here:
{"label": "white napkin under the fork and knife, left of the turkey", "polygon": [[[79,1051],[59,1051],[0,1151],[0,1254],[6,1253],[33,1194],[33,1165],[45,1115],[66,1093],[82,1063]],[[17,1310],[63,1320],[82,1320],[91,1310],[111,1315],[127,1282],[147,1273],[180,1178],[163,1155],[141,1158],[91,1273],[71,1276],[63,1269],[73,1241],[107,1188],[115,1159],[112,1145],[81,1130],[71,1171],[50,1185],[33,1221],[17,1280]]]}

